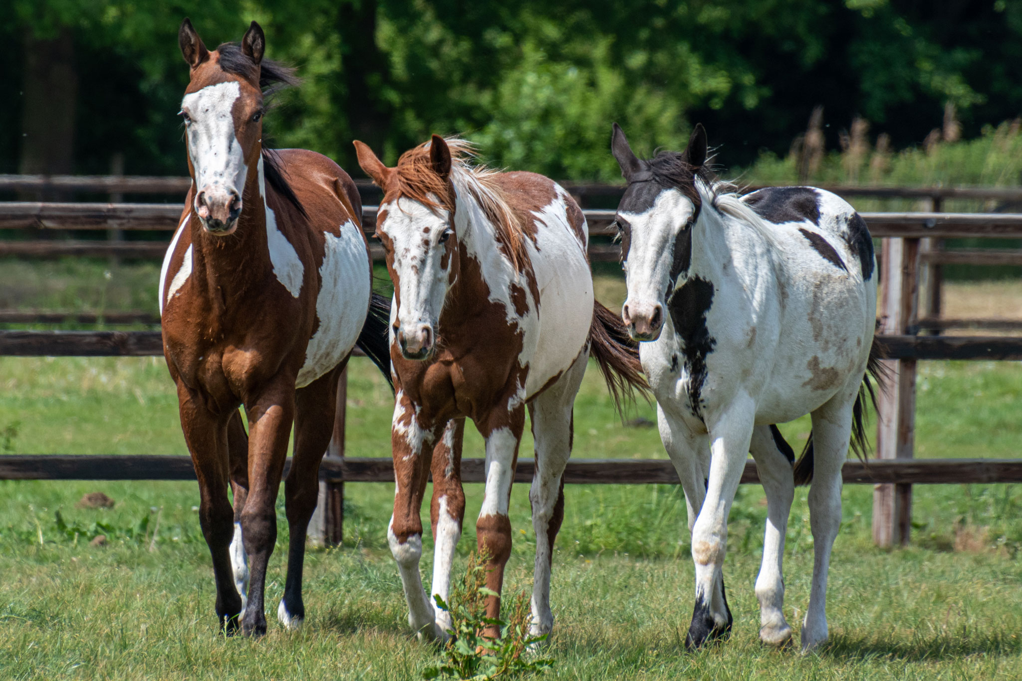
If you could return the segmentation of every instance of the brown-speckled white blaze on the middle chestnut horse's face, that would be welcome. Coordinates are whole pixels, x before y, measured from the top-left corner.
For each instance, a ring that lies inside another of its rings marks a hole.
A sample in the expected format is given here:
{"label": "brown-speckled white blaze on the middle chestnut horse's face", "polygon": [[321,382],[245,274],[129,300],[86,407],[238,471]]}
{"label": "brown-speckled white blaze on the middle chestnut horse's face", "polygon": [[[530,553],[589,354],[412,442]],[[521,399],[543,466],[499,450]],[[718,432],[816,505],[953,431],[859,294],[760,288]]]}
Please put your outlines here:
{"label": "brown-speckled white blaze on the middle chestnut horse's face", "polygon": [[440,239],[450,214],[408,198],[384,203],[380,212],[383,210],[386,220],[379,229],[391,241],[401,287],[398,322],[407,328],[426,324],[435,329],[449,286],[448,271],[443,266],[447,245]]}

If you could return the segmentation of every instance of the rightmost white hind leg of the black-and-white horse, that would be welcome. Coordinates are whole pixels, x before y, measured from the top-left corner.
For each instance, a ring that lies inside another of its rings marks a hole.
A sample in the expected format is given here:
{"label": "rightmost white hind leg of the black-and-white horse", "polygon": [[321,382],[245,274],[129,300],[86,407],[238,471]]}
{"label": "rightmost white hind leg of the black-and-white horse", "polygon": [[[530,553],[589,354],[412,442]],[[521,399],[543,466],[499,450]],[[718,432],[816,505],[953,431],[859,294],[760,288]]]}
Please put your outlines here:
{"label": "rightmost white hind leg of the black-and-white horse", "polygon": [[802,624],[802,650],[827,640],[827,572],[831,549],[841,528],[841,467],[851,436],[851,405],[857,383],[848,393],[831,398],[812,412],[814,471],[809,488],[809,527],[812,530],[812,588]]}

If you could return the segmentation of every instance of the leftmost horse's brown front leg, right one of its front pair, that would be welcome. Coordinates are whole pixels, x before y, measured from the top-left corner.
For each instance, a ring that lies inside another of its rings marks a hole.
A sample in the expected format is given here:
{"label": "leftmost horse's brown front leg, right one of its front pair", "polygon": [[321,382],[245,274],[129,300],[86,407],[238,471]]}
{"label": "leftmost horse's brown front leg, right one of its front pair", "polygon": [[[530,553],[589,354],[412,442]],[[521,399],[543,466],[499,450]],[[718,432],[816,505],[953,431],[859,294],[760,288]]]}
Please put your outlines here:
{"label": "leftmost horse's brown front leg, right one of its front pair", "polygon": [[280,380],[269,386],[245,409],[249,431],[248,498],[241,512],[241,533],[248,554],[249,582],[241,630],[261,636],[266,633],[266,569],[277,541],[277,492],[294,421],[294,380]]}

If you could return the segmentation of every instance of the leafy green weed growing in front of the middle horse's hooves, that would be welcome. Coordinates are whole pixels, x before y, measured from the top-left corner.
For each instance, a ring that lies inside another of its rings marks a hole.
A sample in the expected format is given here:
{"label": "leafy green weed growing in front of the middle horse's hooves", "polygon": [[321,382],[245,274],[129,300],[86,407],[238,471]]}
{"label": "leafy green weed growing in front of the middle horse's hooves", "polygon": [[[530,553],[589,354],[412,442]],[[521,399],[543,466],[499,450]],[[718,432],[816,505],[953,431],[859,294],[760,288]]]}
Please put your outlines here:
{"label": "leafy green weed growing in front of the middle horse's hooves", "polygon": [[[524,591],[515,597],[507,622],[486,617],[486,598],[498,594],[485,587],[485,551],[472,551],[465,576],[452,590],[451,603],[445,602],[439,594],[433,595],[436,606],[451,616],[453,636],[444,647],[446,662],[424,669],[423,679],[451,677],[491,681],[510,679],[553,666],[552,660],[529,659],[527,655],[529,646],[542,643],[547,635],[529,635],[529,609]],[[492,639],[482,635],[487,627],[497,627],[500,636]]]}

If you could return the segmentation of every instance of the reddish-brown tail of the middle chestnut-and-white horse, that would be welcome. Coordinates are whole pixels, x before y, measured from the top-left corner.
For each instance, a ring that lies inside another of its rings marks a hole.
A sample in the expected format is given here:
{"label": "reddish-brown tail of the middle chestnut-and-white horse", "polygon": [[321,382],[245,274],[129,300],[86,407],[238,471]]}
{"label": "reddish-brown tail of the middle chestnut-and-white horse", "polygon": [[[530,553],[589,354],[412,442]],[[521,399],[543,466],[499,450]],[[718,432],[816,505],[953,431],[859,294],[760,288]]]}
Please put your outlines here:
{"label": "reddish-brown tail of the middle chestnut-and-white horse", "polygon": [[607,383],[614,408],[622,417],[622,401],[634,401],[636,391],[650,399],[649,384],[642,375],[639,344],[629,336],[621,318],[594,301],[593,324],[589,328],[589,354],[596,359]]}

